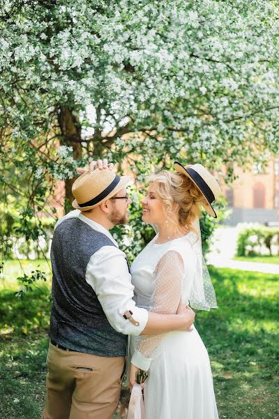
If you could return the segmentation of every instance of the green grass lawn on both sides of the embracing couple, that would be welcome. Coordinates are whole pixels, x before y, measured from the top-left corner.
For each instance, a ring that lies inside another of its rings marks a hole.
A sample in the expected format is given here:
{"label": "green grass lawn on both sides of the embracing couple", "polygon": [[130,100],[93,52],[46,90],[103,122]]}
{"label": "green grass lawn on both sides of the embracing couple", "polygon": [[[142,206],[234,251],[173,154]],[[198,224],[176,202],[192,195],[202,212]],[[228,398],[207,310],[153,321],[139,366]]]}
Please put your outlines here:
{"label": "green grass lawn on both sides of the embracing couple", "polygon": [[[17,300],[16,281],[7,276],[15,274],[15,263],[9,261],[5,269],[6,279],[0,277],[0,418],[39,419],[49,284]],[[195,325],[211,358],[220,419],[278,418],[278,277],[213,267],[210,271],[219,309],[197,312]]]}

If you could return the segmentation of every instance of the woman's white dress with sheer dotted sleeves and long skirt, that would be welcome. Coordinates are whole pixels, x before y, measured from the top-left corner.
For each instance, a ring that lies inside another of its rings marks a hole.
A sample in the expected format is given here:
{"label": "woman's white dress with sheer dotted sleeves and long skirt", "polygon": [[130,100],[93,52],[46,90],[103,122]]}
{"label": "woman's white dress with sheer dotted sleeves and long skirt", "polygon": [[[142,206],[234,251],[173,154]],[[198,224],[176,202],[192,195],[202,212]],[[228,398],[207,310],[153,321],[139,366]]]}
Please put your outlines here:
{"label": "woman's white dress with sheer dotted sleeves and long skirt", "polygon": [[[175,314],[181,296],[188,302],[197,257],[190,235],[165,244],[156,244],[156,236],[135,258],[131,274],[139,307]],[[140,369],[149,369],[146,419],[218,418],[209,355],[195,327],[131,337],[130,358]]]}

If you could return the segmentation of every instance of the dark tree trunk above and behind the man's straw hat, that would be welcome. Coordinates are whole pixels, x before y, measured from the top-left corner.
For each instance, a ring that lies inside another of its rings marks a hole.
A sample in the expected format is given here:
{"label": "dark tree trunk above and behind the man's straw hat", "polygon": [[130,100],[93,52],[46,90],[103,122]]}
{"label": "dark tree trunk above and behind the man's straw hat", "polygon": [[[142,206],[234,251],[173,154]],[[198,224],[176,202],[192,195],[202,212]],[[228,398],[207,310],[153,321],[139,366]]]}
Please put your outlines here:
{"label": "dark tree trunk above and behind the man's straw hat", "polygon": [[[61,106],[58,113],[58,121],[61,129],[61,145],[73,147],[73,158],[75,160],[82,159],[82,127],[80,125],[79,110],[76,108],[68,108]],[[72,202],[72,186],[77,177],[68,179],[65,182],[65,213],[73,210]]]}

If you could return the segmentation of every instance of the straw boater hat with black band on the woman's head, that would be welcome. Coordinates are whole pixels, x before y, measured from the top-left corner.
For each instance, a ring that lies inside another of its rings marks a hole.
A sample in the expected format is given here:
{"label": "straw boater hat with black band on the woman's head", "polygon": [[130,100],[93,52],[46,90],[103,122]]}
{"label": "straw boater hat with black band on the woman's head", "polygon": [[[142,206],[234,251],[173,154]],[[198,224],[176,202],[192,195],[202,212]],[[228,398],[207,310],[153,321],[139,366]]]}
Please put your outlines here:
{"label": "straw boater hat with black band on the woman's head", "polygon": [[220,196],[221,189],[217,180],[214,179],[211,173],[199,163],[184,167],[179,161],[175,161],[174,168],[176,169],[176,172],[183,173],[183,175],[188,176],[192,182],[194,182],[208,203],[208,205],[203,205],[204,210],[214,218],[217,218],[216,212],[213,210],[213,207],[211,207],[211,204]]}

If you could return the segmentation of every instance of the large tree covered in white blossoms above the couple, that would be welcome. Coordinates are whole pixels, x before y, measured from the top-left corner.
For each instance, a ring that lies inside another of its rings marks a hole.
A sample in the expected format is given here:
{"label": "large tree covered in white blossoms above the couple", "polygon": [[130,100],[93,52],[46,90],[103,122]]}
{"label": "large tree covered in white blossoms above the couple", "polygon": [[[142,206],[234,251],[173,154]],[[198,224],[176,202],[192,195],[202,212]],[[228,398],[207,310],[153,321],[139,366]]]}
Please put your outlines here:
{"label": "large tree covered in white blossoms above the couple", "polygon": [[79,160],[142,179],[278,152],[276,1],[3,0],[0,14],[1,195],[26,225],[56,178],[70,200]]}

